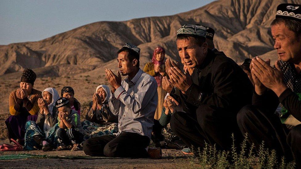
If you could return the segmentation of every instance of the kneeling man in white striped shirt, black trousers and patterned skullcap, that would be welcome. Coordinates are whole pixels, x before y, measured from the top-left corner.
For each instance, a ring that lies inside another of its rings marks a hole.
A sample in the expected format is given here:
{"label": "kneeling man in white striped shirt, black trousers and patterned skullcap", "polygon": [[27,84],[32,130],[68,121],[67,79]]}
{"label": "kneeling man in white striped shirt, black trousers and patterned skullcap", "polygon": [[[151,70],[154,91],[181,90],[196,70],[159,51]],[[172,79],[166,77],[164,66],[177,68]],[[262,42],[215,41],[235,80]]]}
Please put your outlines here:
{"label": "kneeling man in white striped shirt, black trousers and patterned skullcap", "polygon": [[[139,68],[140,48],[126,43],[118,52],[117,76],[105,69],[112,86],[109,107],[118,115],[117,135],[103,135],[88,139],[84,152],[91,156],[161,158],[160,148],[146,148],[158,104],[155,78]],[[127,76],[121,81],[122,76]]]}

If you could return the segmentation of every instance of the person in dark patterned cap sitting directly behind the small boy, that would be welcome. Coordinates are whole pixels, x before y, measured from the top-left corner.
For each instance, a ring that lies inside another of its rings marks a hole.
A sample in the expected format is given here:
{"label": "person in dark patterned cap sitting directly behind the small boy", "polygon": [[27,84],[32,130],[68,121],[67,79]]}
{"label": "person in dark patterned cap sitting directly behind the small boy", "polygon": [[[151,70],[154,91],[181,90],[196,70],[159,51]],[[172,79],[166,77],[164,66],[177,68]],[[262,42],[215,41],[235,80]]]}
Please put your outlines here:
{"label": "person in dark patterned cap sitting directly behind the small boy", "polygon": [[80,102],[74,98],[74,90],[70,86],[63,87],[61,91],[61,97],[67,98],[72,110],[77,111],[77,114],[80,115]]}

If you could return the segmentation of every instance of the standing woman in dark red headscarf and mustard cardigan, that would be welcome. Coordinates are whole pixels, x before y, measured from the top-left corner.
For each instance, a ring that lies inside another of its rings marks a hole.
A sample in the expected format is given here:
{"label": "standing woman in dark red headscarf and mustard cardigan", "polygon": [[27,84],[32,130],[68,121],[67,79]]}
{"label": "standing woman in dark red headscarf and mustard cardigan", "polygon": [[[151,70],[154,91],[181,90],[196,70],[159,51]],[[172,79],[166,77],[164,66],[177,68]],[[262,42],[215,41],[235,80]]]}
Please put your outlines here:
{"label": "standing woman in dark red headscarf and mustard cardigan", "polygon": [[162,78],[163,76],[167,76],[165,72],[165,50],[163,47],[156,47],[153,52],[153,58],[151,62],[146,63],[143,71],[147,74],[153,76],[158,84],[158,106],[155,112],[155,120],[159,120],[161,117],[161,112],[163,108],[164,97],[166,95],[166,91],[162,89]]}

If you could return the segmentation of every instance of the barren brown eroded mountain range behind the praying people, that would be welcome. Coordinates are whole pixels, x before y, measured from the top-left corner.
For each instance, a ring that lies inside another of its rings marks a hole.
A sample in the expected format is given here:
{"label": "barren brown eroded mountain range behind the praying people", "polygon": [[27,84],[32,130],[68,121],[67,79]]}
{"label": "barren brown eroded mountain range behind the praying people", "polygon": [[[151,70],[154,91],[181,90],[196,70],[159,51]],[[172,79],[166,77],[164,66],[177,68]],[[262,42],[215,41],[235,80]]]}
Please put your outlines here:
{"label": "barren brown eroded mountain range behind the praying people", "polygon": [[141,67],[150,61],[158,45],[166,49],[167,57],[179,60],[176,31],[185,23],[215,29],[216,48],[238,63],[262,54],[277,58],[271,52],[270,23],[278,4],[291,2],[300,4],[301,0],[220,0],[172,16],[95,22],[37,42],[2,45],[0,75],[21,72],[27,67],[39,68],[35,70],[42,77],[88,72],[115,59],[125,42],[141,48]]}

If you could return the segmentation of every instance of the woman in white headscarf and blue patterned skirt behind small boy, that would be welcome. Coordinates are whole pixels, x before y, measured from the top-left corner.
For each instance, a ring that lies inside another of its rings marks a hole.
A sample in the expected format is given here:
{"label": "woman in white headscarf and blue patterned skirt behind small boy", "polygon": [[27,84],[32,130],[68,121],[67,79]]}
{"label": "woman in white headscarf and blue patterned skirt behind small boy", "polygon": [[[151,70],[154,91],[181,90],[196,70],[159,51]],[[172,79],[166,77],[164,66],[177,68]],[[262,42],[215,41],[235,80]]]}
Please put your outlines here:
{"label": "woman in white headscarf and blue patterned skirt behind small boy", "polygon": [[42,149],[50,151],[58,146],[56,130],[59,128],[58,114],[55,107],[60,96],[56,89],[47,88],[42,92],[43,98],[38,99],[40,112],[36,122],[28,121],[25,129],[25,149]]}

